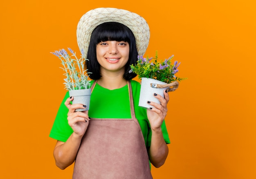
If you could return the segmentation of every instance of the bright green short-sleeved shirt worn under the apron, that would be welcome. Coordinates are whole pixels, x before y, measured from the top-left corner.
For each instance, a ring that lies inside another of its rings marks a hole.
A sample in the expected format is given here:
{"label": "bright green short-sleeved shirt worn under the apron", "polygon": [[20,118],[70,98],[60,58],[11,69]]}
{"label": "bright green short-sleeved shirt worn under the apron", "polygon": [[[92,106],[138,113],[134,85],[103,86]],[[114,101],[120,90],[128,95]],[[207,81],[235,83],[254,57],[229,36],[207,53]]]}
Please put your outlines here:
{"label": "bright green short-sleeved shirt worn under the apron", "polygon": [[[148,147],[150,146],[151,142],[151,129],[147,118],[146,109],[138,106],[140,84],[137,81],[131,80],[131,86],[135,116],[141,127],[146,146]],[[49,135],[50,137],[63,142],[65,142],[73,133],[72,128],[67,123],[68,109],[64,104],[68,97],[70,96],[67,92],[58,110],[56,119]],[[92,118],[130,119],[131,115],[128,85],[119,89],[109,90],[99,86],[99,84],[96,84],[91,95],[90,110],[88,111],[88,115]],[[166,130],[165,122],[162,124],[162,133],[166,144],[169,144],[170,140]]]}

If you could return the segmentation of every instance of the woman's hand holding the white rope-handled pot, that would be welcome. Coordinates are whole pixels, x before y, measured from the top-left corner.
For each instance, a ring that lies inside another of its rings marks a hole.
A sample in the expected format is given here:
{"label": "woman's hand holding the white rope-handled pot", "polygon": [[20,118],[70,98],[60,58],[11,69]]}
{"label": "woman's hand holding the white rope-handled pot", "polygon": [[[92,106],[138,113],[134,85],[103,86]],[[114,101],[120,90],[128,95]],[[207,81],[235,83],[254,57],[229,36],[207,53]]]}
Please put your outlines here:
{"label": "woman's hand holding the white rope-handled pot", "polygon": [[153,95],[160,101],[161,104],[157,104],[155,102],[148,102],[148,104],[152,105],[155,108],[148,108],[147,115],[151,130],[158,130],[159,128],[161,128],[164,118],[167,115],[167,103],[169,102],[169,95],[165,90],[164,97],[156,93]]}

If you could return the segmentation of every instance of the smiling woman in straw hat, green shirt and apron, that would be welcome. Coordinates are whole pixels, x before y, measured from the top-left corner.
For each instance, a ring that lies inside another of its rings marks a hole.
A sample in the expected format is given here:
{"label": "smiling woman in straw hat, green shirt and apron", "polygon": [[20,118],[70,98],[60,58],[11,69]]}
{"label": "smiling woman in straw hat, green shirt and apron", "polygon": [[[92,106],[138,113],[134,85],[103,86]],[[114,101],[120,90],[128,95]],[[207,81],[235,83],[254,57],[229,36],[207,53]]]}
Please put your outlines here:
{"label": "smiling woman in straw hat, green shirt and apron", "polygon": [[148,160],[160,167],[168,155],[169,96],[152,94],[161,104],[139,107],[140,84],[129,73],[148,46],[148,24],[126,10],[93,9],[79,21],[77,40],[93,80],[90,110],[75,112],[86,106],[65,96],[50,133],[56,165],[75,161],[73,178],[152,178]]}

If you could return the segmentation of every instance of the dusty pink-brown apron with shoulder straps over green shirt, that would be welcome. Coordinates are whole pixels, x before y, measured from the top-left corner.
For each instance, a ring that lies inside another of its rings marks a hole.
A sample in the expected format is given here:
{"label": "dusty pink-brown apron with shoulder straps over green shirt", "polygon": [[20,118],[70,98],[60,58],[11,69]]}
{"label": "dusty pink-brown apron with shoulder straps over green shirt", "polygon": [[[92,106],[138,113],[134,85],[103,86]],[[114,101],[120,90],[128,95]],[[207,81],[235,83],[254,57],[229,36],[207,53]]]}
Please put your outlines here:
{"label": "dusty pink-brown apron with shoulder straps over green shirt", "polygon": [[130,81],[128,89],[132,119],[90,119],[76,156],[73,179],[152,179]]}

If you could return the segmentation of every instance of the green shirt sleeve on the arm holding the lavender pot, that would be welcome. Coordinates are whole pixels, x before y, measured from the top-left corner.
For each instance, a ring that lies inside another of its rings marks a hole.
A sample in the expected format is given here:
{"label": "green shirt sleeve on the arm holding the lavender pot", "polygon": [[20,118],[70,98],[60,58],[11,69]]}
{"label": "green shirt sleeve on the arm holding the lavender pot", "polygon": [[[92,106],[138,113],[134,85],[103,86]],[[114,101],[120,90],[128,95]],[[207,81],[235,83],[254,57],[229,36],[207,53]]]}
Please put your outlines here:
{"label": "green shirt sleeve on the arm holding the lavender pot", "polygon": [[58,109],[58,113],[54,120],[54,124],[52,126],[52,130],[50,132],[49,137],[52,137],[59,141],[67,141],[70,135],[73,133],[72,128],[67,123],[67,113],[68,109],[65,106],[66,99],[70,97],[67,91],[63,101],[61,102],[61,106]]}

